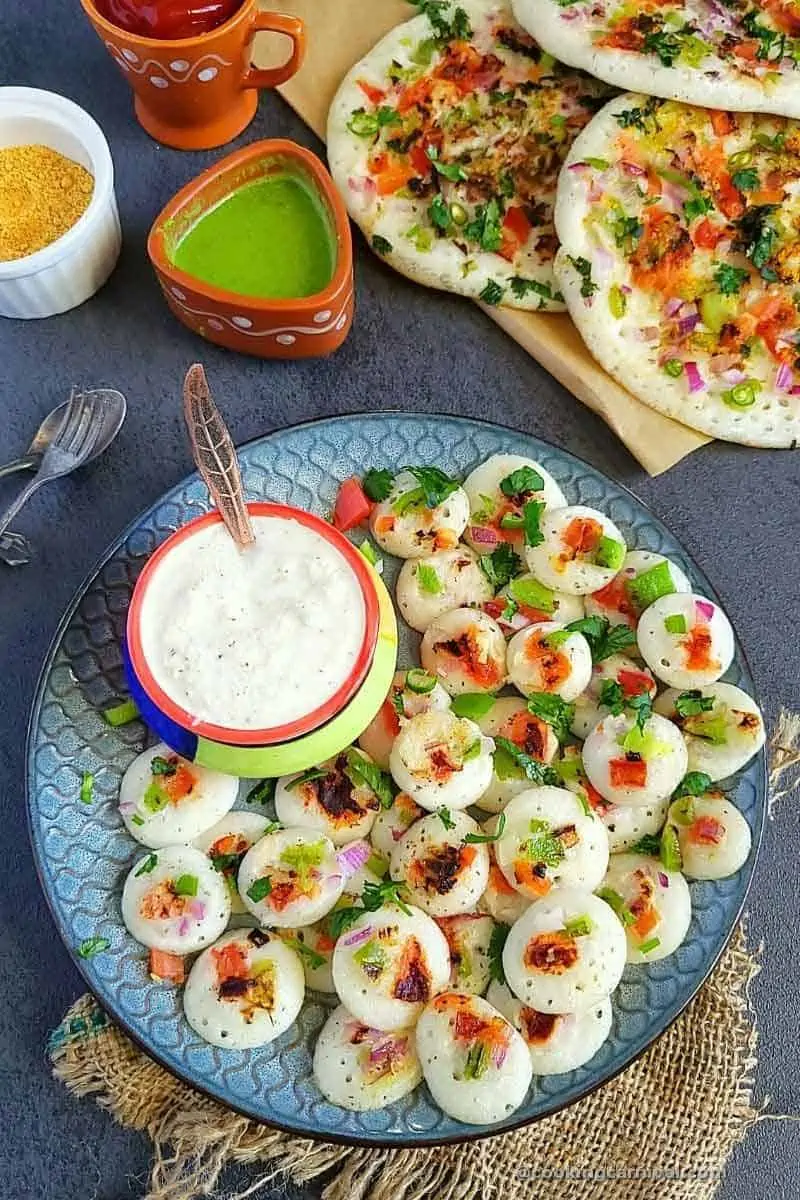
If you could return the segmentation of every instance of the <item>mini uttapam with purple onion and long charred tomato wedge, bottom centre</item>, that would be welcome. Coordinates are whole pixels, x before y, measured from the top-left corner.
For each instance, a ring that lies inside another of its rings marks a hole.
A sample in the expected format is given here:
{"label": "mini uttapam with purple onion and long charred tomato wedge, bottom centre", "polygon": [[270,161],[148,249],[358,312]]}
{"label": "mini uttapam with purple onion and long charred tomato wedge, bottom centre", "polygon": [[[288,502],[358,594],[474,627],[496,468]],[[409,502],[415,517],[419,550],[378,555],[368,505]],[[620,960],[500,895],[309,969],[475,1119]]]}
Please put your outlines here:
{"label": "mini uttapam with purple onion and long charred tomato wedge, bottom centre", "polygon": [[410,905],[365,912],[333,950],[336,992],[371,1027],[410,1028],[449,979],[445,935],[432,917]]}

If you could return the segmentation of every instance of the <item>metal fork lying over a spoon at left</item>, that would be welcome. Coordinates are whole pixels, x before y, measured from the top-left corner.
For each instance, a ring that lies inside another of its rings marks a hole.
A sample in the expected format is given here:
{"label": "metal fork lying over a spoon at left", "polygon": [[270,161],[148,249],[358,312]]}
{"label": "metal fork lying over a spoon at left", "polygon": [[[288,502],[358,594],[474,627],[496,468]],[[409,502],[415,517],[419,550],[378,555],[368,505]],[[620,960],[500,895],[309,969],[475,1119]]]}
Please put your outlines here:
{"label": "metal fork lying over a spoon at left", "polygon": [[95,457],[98,445],[112,442],[124,420],[125,397],[120,392],[101,390],[72,395],[61,425],[42,455],[38,472],[0,516],[0,538],[34,492],[52,479],[61,479],[83,467]]}

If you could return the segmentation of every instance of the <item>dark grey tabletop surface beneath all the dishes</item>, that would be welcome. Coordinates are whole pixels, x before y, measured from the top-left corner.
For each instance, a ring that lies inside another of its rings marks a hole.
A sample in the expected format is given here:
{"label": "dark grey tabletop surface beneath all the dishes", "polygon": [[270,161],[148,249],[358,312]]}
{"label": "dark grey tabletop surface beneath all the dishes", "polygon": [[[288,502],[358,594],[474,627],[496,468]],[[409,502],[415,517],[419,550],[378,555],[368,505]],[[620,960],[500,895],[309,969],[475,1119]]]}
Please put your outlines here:
{"label": "dark grey tabletop surface beneath all the dishes", "polygon": [[[332,359],[275,364],[206,347],[167,312],[144,245],[155,214],[218,152],[184,155],[149,140],[77,0],[0,0],[0,80],[61,91],[97,118],[116,164],[125,235],[119,268],[92,301],[50,320],[0,320],[0,460],[26,446],[72,383],[114,385],[130,402],[127,425],[107,457],[50,486],[18,521],[36,544],[35,562],[14,572],[0,568],[0,1183],[12,1196],[37,1200],[124,1200],[143,1193],[145,1140],[120,1130],[90,1100],[70,1099],[44,1060],[47,1032],[82,980],[34,872],[23,752],[36,676],[62,608],[104,546],[190,469],[179,407],[186,366],[204,360],[239,442],[314,416],[402,407],[498,420],[595,463],[649,503],[711,577],[770,721],[781,706],[800,707],[800,458],[716,444],[649,479],[600,420],[477,308],[395,276],[360,238],[356,322]],[[261,100],[242,140],[266,136],[319,149],[272,96]],[[0,503],[13,487],[0,484]],[[752,941],[765,942],[753,989],[758,1096],[783,1112],[800,1108],[798,845],[800,810],[789,804],[766,829],[750,900]],[[646,1146],[642,1154],[646,1160]],[[799,1158],[795,1126],[760,1126],[734,1156],[720,1200],[796,1198]],[[230,1172],[225,1183],[248,1177]]]}

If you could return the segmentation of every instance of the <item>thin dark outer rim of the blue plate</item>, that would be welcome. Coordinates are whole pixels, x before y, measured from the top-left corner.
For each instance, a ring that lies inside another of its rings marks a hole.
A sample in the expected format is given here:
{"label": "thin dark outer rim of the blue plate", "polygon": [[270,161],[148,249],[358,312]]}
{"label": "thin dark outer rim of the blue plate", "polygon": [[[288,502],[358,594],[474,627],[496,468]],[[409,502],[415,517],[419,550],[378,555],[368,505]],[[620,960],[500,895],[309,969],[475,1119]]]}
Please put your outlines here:
{"label": "thin dark outer rim of the blue plate", "polygon": [[[625,484],[619,482],[615,479],[612,479],[610,475],[607,475],[599,467],[595,467],[593,463],[587,462],[584,458],[578,457],[578,455],[572,454],[570,450],[565,450],[563,446],[555,445],[555,443],[548,442],[546,438],[541,438],[537,434],[527,433],[525,431],[522,430],[516,430],[513,426],[503,425],[499,421],[483,421],[477,418],[457,416],[457,415],[451,415],[449,413],[414,413],[401,408],[389,408],[384,409],[380,413],[357,413],[357,412],[339,413],[336,416],[320,416],[309,421],[297,422],[296,425],[284,426],[279,430],[272,430],[270,433],[260,434],[258,437],[251,438],[247,442],[241,443],[241,445],[239,445],[237,449],[247,450],[251,446],[279,440],[282,437],[285,437],[289,433],[295,433],[303,430],[314,430],[320,426],[338,425],[350,421],[363,422],[363,421],[386,421],[386,420],[401,420],[401,421],[427,420],[433,422],[445,421],[447,424],[458,424],[465,427],[479,427],[487,431],[495,431],[504,436],[524,437],[527,440],[533,442],[534,444],[539,444],[546,451],[553,452],[557,456],[567,460],[576,467],[582,469],[588,469],[590,473],[599,475],[603,480],[603,482],[612,490],[615,490],[619,494],[632,502],[634,506],[640,509],[646,515],[648,520],[654,524],[654,527],[656,527],[660,532],[664,533],[670,540],[678,544],[686,562],[691,565],[692,572],[704,584],[708,584],[711,596],[714,596],[718,602],[718,594],[716,592],[716,588],[711,586],[711,581],[705,575],[705,571],[703,571],[698,566],[693,556],[690,554],[688,551],[685,548],[682,541],[674,533],[672,533],[669,527],[658,516],[656,516],[652,509],[650,509],[650,506],[645,504],[644,500],[642,500],[630,487],[627,487]],[[26,740],[25,740],[25,815],[28,820],[28,834],[31,842],[36,875],[38,877],[42,892],[44,894],[47,906],[50,911],[50,916],[53,917],[53,922],[59,931],[61,941],[64,942],[73,965],[77,967],[79,974],[82,976],[91,995],[95,997],[100,1007],[107,1013],[110,1020],[137,1046],[139,1046],[139,1049],[149,1058],[157,1062],[161,1067],[168,1070],[170,1075],[179,1079],[182,1084],[186,1084],[187,1087],[193,1088],[200,1094],[216,1100],[218,1104],[222,1104],[224,1108],[228,1108],[231,1111],[237,1112],[251,1121],[255,1121],[259,1124],[267,1126],[269,1128],[279,1129],[283,1133],[291,1134],[293,1136],[306,1138],[311,1140],[315,1139],[324,1142],[331,1142],[333,1145],[368,1146],[378,1150],[399,1150],[399,1148],[416,1148],[426,1146],[449,1146],[449,1145],[458,1145],[462,1142],[482,1141],[489,1138],[499,1138],[504,1134],[513,1133],[515,1130],[519,1130],[525,1126],[534,1124],[537,1121],[542,1121],[546,1117],[552,1117],[557,1112],[560,1112],[564,1109],[570,1108],[572,1104],[577,1104],[582,1099],[585,1099],[588,1096],[591,1096],[594,1092],[599,1091],[599,1088],[604,1087],[612,1080],[621,1075],[622,1072],[627,1070],[627,1068],[632,1066],[632,1063],[634,1063],[638,1058],[640,1058],[655,1044],[655,1042],[657,1042],[658,1038],[663,1037],[667,1030],[670,1028],[670,1026],[674,1025],[674,1022],[685,1013],[685,1010],[692,1003],[699,990],[709,979],[710,974],[712,973],[714,968],[716,967],[717,962],[720,961],[728,944],[730,943],[730,938],[734,935],[736,925],[739,924],[745,905],[747,902],[747,896],[750,894],[750,889],[752,886],[753,875],[756,872],[756,866],[758,864],[758,859],[760,856],[764,824],[766,817],[766,797],[769,787],[765,749],[762,749],[758,755],[758,763],[760,767],[757,780],[759,820],[758,820],[758,827],[752,828],[752,852],[750,856],[750,868],[746,877],[742,881],[744,887],[741,892],[741,898],[736,906],[735,912],[730,918],[727,935],[721,941],[716,952],[711,954],[708,961],[705,962],[704,968],[702,970],[697,982],[691,988],[690,992],[681,1000],[680,1004],[670,1016],[668,1016],[666,1020],[663,1018],[660,1019],[660,1022],[656,1026],[654,1026],[652,1034],[648,1037],[648,1040],[644,1043],[644,1045],[640,1046],[640,1049],[627,1054],[624,1057],[624,1061],[619,1063],[619,1066],[616,1066],[610,1070],[607,1070],[607,1073],[603,1074],[602,1078],[590,1080],[585,1085],[585,1087],[583,1087],[581,1092],[576,1096],[569,1097],[566,1099],[551,1098],[547,1105],[543,1106],[540,1111],[533,1114],[525,1114],[519,1117],[512,1117],[510,1121],[504,1122],[495,1129],[486,1127],[473,1129],[469,1126],[464,1126],[463,1132],[443,1134],[439,1136],[415,1134],[414,1136],[409,1136],[408,1142],[401,1142],[397,1139],[381,1138],[380,1134],[374,1134],[374,1135],[338,1134],[338,1133],[332,1133],[330,1130],[324,1130],[321,1133],[312,1130],[309,1133],[307,1129],[301,1129],[296,1124],[290,1124],[273,1116],[265,1117],[261,1114],[254,1112],[251,1108],[247,1108],[246,1105],[236,1104],[229,1097],[221,1094],[219,1091],[215,1090],[210,1085],[206,1086],[203,1082],[198,1081],[198,1079],[190,1075],[187,1072],[181,1070],[174,1063],[169,1062],[166,1056],[162,1056],[157,1049],[151,1046],[149,1042],[145,1038],[143,1038],[136,1028],[132,1027],[125,1014],[118,1010],[118,1006],[113,1003],[106,1003],[102,1000],[102,997],[97,995],[97,992],[95,991],[94,980],[90,974],[86,961],[78,955],[76,948],[72,946],[72,942],[68,937],[67,930],[65,929],[61,922],[60,914],[56,910],[55,900],[50,895],[50,889],[46,880],[44,863],[40,854],[37,835],[34,829],[34,803],[32,803],[32,793],[35,786],[34,740],[36,737],[38,719],[41,715],[42,702],[44,700],[44,690],[47,686],[47,680],[53,668],[54,659],[59,652],[61,641],[70,625],[70,622],[72,620],[76,611],[78,610],[78,606],[80,605],[85,593],[88,592],[88,589],[90,588],[97,575],[101,572],[101,570],[108,564],[110,558],[113,558],[113,556],[118,553],[118,551],[125,544],[125,541],[133,533],[136,533],[140,523],[152,512],[152,510],[156,509],[160,504],[164,503],[168,496],[172,494],[172,492],[185,487],[190,481],[197,478],[198,478],[197,472],[192,472],[191,474],[185,475],[182,479],[178,480],[178,482],[174,484],[168,492],[162,493],[162,496],[158,497],[156,500],[154,500],[152,504],[148,505],[148,508],[138,512],[137,516],[125,527],[125,529],[122,529],[121,533],[118,534],[114,541],[106,547],[103,553],[100,556],[100,558],[95,562],[95,564],[91,566],[91,569],[86,572],[86,575],[82,580],[80,584],[76,589],[74,595],[72,596],[72,600],[67,605],[61,619],[59,620],[55,632],[53,634],[53,637],[50,640],[50,644],[48,647],[44,662],[42,664],[42,668],[36,680],[36,689],[34,694],[34,701],[31,704],[31,712],[28,722]],[[739,632],[736,630],[735,624],[733,624],[733,620],[732,625],[734,631],[736,653],[748,676],[750,683],[752,684],[753,698],[756,700],[756,702],[760,708],[762,707],[760,697],[754,686],[752,670],[750,667],[750,662],[747,660],[744,644],[739,637]]]}

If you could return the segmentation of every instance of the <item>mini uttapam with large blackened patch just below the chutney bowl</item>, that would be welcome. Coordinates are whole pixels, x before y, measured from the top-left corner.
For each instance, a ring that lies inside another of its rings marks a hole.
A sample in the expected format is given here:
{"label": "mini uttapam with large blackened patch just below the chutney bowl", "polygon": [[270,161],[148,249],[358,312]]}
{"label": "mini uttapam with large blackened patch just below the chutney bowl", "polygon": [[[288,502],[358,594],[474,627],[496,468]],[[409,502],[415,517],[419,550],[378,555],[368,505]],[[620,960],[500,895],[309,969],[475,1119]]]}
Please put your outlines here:
{"label": "mini uttapam with large blackened patch just below the chutney bowl", "polygon": [[284,775],[275,787],[278,821],[319,830],[335,846],[366,838],[380,810],[371,772],[374,764],[368,755],[350,746],[319,767]]}

